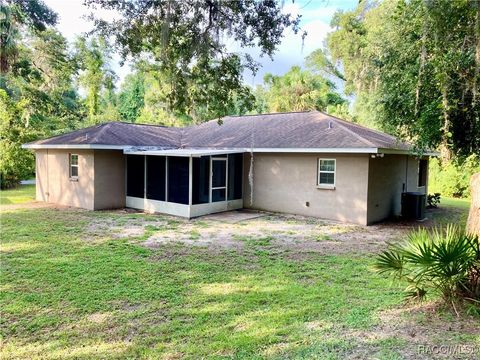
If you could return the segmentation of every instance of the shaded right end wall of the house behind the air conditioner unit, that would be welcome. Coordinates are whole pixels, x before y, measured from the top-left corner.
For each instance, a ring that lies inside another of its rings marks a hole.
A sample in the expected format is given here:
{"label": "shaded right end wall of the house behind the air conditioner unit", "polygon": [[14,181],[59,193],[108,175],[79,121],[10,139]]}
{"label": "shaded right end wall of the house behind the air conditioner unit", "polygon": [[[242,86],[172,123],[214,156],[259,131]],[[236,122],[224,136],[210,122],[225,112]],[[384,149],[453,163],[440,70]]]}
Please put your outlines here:
{"label": "shaded right end wall of the house behind the air conditioner unit", "polygon": [[427,193],[426,186],[417,186],[418,161],[416,157],[407,155],[385,155],[383,158],[370,158],[368,224],[400,215],[403,191]]}

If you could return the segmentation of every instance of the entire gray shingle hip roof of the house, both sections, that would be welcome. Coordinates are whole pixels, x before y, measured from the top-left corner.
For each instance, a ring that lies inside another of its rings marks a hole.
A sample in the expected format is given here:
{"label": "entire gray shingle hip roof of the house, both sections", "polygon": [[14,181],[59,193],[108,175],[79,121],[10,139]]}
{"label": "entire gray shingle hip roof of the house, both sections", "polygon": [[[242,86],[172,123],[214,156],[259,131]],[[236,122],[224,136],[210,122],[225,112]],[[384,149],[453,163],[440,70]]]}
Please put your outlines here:
{"label": "entire gray shingle hip roof of the house, both sections", "polygon": [[163,148],[384,148],[408,144],[319,111],[227,116],[186,128],[110,122],[34,145],[119,145]]}

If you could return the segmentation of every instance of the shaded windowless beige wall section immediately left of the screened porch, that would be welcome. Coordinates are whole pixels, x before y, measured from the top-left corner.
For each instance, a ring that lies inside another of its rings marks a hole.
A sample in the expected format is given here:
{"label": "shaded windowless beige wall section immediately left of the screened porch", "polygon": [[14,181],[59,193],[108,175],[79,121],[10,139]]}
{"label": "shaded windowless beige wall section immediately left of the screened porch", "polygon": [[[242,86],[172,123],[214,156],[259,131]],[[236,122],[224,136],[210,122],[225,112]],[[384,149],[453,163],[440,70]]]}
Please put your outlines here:
{"label": "shaded windowless beige wall section immediately left of the screened porch", "polygon": [[121,151],[95,150],[95,210],[125,207],[125,157]]}

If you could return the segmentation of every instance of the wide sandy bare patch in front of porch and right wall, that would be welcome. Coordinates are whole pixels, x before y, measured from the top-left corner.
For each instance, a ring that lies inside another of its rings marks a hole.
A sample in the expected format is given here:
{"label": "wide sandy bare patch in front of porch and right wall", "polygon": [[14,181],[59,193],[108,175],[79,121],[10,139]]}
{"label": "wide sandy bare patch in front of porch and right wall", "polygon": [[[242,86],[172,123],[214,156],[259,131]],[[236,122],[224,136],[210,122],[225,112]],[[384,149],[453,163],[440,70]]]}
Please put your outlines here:
{"label": "wide sandy bare patch in front of porch and right wall", "polygon": [[[178,226],[160,226],[152,231],[143,245],[159,248],[178,243],[212,250],[244,249],[245,244],[285,250],[288,256],[301,258],[309,253],[371,253],[397,241],[407,231],[385,226],[359,226],[303,216],[265,214],[238,222],[200,218],[181,221]],[[262,239],[269,239],[268,243]]]}

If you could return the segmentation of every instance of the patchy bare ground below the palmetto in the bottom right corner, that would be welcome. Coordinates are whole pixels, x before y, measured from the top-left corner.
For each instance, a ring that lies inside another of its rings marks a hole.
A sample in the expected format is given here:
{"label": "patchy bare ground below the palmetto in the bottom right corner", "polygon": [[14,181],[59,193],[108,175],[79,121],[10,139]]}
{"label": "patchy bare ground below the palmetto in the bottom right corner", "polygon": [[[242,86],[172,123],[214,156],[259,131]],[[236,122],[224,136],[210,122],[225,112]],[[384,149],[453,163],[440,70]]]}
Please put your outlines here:
{"label": "patchy bare ground below the palmetto in the bottom right corner", "polygon": [[439,303],[383,311],[378,314],[378,321],[373,328],[341,331],[341,336],[357,343],[349,358],[375,358],[382,346],[393,352],[397,350],[402,359],[478,359],[480,356],[478,318],[465,314],[455,317]]}

